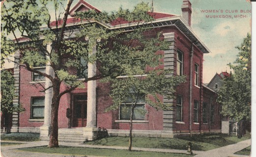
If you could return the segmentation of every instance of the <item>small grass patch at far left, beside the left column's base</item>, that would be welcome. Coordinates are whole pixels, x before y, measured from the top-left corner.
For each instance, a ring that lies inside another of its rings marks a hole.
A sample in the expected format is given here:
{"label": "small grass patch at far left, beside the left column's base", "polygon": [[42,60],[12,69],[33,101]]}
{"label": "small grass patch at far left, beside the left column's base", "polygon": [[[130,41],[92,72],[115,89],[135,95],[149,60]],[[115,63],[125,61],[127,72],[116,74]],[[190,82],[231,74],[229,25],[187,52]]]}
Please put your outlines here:
{"label": "small grass patch at far left, beside the left column's base", "polygon": [[10,133],[1,134],[1,140],[11,140],[11,141],[39,141],[39,133]]}

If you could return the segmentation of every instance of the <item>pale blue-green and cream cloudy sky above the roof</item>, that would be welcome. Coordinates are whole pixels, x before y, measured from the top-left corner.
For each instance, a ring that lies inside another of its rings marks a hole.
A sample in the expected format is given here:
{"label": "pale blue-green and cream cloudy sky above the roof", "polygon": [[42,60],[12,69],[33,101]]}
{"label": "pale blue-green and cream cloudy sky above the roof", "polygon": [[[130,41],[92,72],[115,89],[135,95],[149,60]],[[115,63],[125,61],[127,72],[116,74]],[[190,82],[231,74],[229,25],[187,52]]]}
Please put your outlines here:
{"label": "pale blue-green and cream cloudy sky above the roof", "polygon": [[[71,8],[78,1],[74,0]],[[151,5],[151,0],[85,1],[97,9],[107,12],[116,11],[119,7],[133,9],[136,4],[142,1]],[[242,43],[248,32],[251,32],[251,3],[246,0],[190,1],[192,3],[192,30],[211,52],[204,54],[203,62],[203,82],[208,83],[216,73],[230,72],[227,64],[236,59],[238,50],[235,47]],[[182,0],[153,0],[154,12],[181,15],[181,5]],[[205,10],[216,10],[218,13],[210,13]],[[223,15],[225,18],[209,18],[213,15]],[[235,18],[235,15],[241,17]]]}

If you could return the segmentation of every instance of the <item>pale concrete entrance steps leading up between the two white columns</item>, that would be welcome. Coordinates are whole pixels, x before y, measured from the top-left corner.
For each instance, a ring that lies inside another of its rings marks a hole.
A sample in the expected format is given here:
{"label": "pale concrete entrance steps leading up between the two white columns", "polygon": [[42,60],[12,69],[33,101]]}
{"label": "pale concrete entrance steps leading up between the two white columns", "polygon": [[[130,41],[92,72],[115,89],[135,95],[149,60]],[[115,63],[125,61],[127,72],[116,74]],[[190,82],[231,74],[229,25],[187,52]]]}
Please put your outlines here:
{"label": "pale concrete entrance steps leading up between the two white columns", "polygon": [[[49,141],[49,136],[41,136],[41,140]],[[83,130],[79,129],[59,129],[58,130],[58,141],[59,142],[73,142],[73,143],[84,143],[87,139],[83,136]]]}

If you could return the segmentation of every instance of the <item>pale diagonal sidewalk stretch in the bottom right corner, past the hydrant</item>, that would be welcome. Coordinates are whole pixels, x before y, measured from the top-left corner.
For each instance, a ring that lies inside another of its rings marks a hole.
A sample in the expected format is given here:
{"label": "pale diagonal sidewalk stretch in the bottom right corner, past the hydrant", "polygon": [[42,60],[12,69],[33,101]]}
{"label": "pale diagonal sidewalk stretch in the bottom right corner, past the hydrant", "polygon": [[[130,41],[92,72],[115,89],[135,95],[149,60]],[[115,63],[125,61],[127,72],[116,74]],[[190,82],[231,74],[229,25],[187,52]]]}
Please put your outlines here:
{"label": "pale diagonal sidewalk stretch in the bottom right corner, past the hydrant", "polygon": [[[249,157],[234,155],[235,152],[251,146],[251,139],[200,153],[194,157]],[[195,153],[196,154],[196,153]]]}

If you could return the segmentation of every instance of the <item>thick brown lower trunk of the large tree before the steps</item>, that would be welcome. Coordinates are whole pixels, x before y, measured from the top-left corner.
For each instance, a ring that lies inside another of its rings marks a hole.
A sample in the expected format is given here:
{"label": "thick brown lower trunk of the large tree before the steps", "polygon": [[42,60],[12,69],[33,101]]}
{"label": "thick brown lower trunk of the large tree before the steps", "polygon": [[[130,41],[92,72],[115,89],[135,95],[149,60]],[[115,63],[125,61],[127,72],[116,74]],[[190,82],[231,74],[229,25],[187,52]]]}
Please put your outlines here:
{"label": "thick brown lower trunk of the large tree before the steps", "polygon": [[58,147],[58,106],[60,81],[53,82],[53,99],[51,109],[51,130],[48,148]]}

